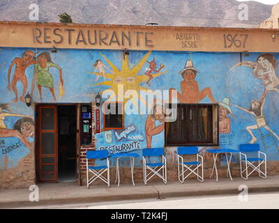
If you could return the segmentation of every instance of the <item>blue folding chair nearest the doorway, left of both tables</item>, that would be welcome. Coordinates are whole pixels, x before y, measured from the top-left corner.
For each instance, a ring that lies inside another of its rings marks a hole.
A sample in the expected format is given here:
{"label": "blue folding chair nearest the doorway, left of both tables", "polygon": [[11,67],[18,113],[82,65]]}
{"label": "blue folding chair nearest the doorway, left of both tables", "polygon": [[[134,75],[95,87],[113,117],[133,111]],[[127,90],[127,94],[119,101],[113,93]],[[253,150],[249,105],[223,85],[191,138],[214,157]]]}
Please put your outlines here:
{"label": "blue folding chair nearest the doorway, left of both tables", "polygon": [[[89,166],[88,160],[91,159],[107,159],[107,164],[103,166]],[[107,171],[107,178],[103,176]],[[89,178],[89,173],[93,174],[91,178]],[[86,152],[86,175],[87,175],[87,188],[89,185],[93,183],[94,180],[100,178],[107,186],[110,187],[110,161],[108,157],[107,151],[87,151]]]}

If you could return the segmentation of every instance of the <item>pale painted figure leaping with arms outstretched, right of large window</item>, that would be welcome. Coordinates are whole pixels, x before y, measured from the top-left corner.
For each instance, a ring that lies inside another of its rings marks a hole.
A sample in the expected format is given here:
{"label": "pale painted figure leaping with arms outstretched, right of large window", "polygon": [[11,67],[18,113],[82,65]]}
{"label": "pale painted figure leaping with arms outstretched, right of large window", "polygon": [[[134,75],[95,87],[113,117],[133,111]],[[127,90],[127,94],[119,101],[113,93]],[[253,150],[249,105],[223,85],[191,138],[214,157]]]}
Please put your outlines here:
{"label": "pale painted figure leaping with arms outstretched, right of large window", "polygon": [[249,114],[252,114],[253,116],[255,116],[256,124],[246,127],[246,130],[249,132],[249,134],[252,137],[249,144],[255,144],[255,141],[257,141],[257,138],[252,133],[252,130],[257,130],[260,128],[265,128],[279,140],[278,135],[269,128],[269,125],[266,122],[266,118],[264,116],[264,103],[265,103],[266,95],[268,94],[268,92],[269,91],[266,91],[266,93],[264,93],[263,97],[259,101],[252,100],[250,109],[245,109],[238,105],[234,105],[235,107],[238,107],[239,109],[243,110],[244,112],[248,112]]}

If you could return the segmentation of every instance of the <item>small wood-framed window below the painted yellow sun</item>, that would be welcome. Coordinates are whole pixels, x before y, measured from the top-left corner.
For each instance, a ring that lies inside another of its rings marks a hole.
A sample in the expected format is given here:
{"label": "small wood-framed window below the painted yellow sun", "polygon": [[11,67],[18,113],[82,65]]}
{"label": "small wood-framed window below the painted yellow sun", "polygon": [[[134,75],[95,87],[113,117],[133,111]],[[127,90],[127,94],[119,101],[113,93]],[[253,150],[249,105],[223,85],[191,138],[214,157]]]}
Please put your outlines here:
{"label": "small wood-framed window below the painted yellow sun", "polygon": [[124,128],[124,115],[122,102],[104,103],[104,130],[120,130]]}

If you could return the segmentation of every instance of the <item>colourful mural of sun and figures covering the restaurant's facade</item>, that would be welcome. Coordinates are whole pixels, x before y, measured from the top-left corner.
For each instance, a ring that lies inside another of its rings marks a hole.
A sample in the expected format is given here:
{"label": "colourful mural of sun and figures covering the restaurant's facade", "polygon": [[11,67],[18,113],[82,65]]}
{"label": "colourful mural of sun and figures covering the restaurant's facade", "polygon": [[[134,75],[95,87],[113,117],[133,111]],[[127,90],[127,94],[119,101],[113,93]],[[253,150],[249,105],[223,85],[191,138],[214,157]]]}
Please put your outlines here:
{"label": "colourful mural of sun and figures covering the restaurant's facade", "polygon": [[[105,98],[110,89],[116,93],[108,99],[113,101],[121,97],[119,84],[124,95],[160,89],[176,102],[218,103],[220,147],[259,143],[269,160],[279,160],[278,54],[244,58],[240,62],[237,53],[0,49],[0,169],[16,167],[33,153],[34,111],[25,105],[27,92],[36,102],[91,102],[96,93]],[[122,130],[103,130],[100,115],[96,148],[141,155],[142,148],[163,147],[165,115],[158,111],[164,101],[125,97],[123,102],[135,111],[144,107],[155,112],[126,114]],[[167,159],[175,161],[176,148],[168,151]],[[135,161],[141,167],[140,159]]]}

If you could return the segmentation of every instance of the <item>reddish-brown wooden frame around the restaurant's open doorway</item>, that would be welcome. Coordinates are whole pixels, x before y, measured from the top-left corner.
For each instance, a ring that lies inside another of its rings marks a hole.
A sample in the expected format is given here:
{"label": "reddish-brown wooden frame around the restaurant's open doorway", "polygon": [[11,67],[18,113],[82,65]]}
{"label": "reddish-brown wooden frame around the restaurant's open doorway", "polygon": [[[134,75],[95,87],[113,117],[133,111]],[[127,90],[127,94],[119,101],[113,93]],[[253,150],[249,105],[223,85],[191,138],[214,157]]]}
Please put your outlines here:
{"label": "reddish-brown wooden frame around the restaurant's open doorway", "polygon": [[75,173],[76,173],[76,182],[78,185],[81,185],[81,171],[80,171],[80,106],[82,103],[34,103],[35,106],[35,171],[36,171],[36,183],[58,183],[58,132],[56,133],[56,180],[50,180],[50,181],[40,181],[39,176],[39,170],[40,170],[40,148],[39,148],[39,142],[40,142],[40,107],[54,107],[56,106],[56,128],[58,131],[58,106],[67,106],[72,105],[75,106],[76,112],[76,148],[75,148],[75,159],[76,159],[76,167],[75,167]]}

